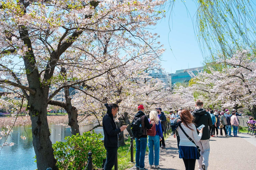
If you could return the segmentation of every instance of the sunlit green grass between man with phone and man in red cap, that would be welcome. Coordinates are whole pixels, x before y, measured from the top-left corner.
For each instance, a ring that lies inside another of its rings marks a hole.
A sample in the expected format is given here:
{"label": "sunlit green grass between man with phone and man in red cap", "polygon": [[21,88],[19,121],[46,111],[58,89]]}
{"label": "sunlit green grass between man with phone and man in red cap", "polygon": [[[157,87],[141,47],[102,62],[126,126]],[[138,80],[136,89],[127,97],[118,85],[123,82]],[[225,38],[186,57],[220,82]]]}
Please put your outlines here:
{"label": "sunlit green grass between man with phone and man in red cap", "polygon": [[[166,134],[165,138],[168,138],[170,135]],[[120,146],[118,148],[118,170],[125,170],[125,169],[129,169],[131,167],[133,167],[135,165],[135,153],[136,153],[136,148],[133,148],[133,163],[131,162],[131,151],[129,151],[129,153],[125,156],[125,154],[127,153],[127,151],[130,148],[130,138],[128,138],[125,141],[125,146]],[[136,147],[136,143],[135,143],[135,139],[133,140],[133,145]],[[146,149],[146,155],[148,155],[148,147]],[[121,157],[121,156],[125,156],[125,157]],[[114,167],[112,168],[112,170],[114,170]]]}

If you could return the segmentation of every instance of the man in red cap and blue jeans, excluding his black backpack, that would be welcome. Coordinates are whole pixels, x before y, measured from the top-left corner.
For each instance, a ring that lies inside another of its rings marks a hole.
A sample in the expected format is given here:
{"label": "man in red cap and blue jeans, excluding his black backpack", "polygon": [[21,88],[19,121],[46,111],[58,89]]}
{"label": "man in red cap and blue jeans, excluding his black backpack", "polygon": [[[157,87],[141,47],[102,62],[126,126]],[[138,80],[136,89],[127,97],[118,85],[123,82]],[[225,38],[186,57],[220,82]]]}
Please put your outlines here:
{"label": "man in red cap and blue jeans, excluding his black backpack", "polygon": [[143,130],[143,133],[140,137],[135,137],[136,142],[136,154],[135,154],[135,160],[136,160],[136,168],[137,170],[147,170],[145,169],[145,153],[147,148],[147,129],[152,128],[153,125],[155,125],[154,121],[151,121],[151,124],[148,121],[147,116],[144,114],[144,106],[139,105],[138,106],[138,113],[135,115],[135,118],[141,119],[141,127]]}

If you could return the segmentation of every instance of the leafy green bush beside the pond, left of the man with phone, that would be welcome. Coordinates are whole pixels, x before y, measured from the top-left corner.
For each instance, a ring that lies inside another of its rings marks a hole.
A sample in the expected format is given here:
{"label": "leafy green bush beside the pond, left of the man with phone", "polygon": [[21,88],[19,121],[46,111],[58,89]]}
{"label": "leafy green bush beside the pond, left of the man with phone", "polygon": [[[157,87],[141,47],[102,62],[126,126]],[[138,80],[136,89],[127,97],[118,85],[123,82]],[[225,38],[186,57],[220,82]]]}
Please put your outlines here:
{"label": "leafy green bush beside the pond, left of the man with phone", "polygon": [[83,170],[87,165],[88,152],[92,152],[92,162],[101,167],[106,158],[106,150],[101,140],[102,134],[86,132],[83,135],[65,137],[66,142],[53,144],[54,156],[60,170]]}

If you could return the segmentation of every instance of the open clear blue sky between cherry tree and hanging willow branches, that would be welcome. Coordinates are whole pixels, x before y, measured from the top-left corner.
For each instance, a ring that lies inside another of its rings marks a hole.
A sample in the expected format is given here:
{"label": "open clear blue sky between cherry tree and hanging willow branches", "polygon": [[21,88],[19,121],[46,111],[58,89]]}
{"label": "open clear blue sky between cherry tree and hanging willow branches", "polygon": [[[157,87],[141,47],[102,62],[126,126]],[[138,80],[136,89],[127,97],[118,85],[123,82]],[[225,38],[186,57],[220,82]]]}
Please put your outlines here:
{"label": "open clear blue sky between cherry tree and hanging willow branches", "polygon": [[[195,23],[196,4],[191,0],[184,3]],[[175,2],[170,18],[170,29],[169,17],[170,11],[167,11],[166,18],[159,21],[152,31],[160,35],[159,41],[161,44],[164,44],[164,48],[166,48],[162,58],[162,67],[168,73],[175,73],[176,70],[188,68],[188,65],[189,68],[202,66],[202,61],[204,60],[203,55],[196,39],[192,19],[185,5],[181,1]]]}

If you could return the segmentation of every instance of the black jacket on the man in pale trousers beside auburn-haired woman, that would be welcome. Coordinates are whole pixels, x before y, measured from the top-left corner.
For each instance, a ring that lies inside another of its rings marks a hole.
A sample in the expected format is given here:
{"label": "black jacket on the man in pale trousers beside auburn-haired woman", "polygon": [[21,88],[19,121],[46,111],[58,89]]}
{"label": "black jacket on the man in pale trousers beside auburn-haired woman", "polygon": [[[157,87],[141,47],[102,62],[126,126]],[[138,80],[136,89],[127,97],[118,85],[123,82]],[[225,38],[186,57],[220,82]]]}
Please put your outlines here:
{"label": "black jacket on the man in pale trousers beside auburn-haired woman", "polygon": [[[195,118],[193,123],[195,124],[196,128],[201,125],[205,126],[203,129],[203,135],[201,137],[201,140],[210,139],[209,126],[212,126],[212,119],[210,114],[204,109],[196,109],[193,111],[192,115]],[[198,130],[197,133],[199,133]]]}

